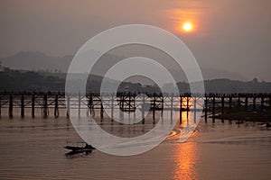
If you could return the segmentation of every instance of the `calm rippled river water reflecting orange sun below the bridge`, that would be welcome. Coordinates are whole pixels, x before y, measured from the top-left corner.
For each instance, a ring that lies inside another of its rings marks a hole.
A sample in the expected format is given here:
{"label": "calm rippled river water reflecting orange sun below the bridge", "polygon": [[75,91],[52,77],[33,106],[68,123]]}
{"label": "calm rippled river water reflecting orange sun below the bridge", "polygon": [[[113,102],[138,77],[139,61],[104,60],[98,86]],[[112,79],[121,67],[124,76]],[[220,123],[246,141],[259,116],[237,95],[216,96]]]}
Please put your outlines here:
{"label": "calm rippled river water reflecting orange sun below the bridge", "polygon": [[[121,129],[106,121],[103,126]],[[255,122],[201,120],[185,143],[179,142],[178,131],[137,156],[116,157],[98,150],[66,156],[67,142],[82,141],[69,120],[2,117],[0,178],[270,179],[271,130],[261,130]]]}

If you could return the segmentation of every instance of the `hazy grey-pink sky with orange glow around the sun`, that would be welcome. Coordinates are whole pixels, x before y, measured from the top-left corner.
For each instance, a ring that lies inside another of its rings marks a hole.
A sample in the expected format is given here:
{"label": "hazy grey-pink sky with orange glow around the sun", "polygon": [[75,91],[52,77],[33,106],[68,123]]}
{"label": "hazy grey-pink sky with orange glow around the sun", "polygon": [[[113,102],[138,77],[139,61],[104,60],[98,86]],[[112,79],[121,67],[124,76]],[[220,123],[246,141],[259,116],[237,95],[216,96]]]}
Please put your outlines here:
{"label": "hazy grey-pink sky with orange glow around the sun", "polygon": [[[183,22],[194,31],[181,31]],[[100,31],[145,23],[180,37],[201,67],[271,81],[271,0],[0,0],[0,57],[75,53]]]}

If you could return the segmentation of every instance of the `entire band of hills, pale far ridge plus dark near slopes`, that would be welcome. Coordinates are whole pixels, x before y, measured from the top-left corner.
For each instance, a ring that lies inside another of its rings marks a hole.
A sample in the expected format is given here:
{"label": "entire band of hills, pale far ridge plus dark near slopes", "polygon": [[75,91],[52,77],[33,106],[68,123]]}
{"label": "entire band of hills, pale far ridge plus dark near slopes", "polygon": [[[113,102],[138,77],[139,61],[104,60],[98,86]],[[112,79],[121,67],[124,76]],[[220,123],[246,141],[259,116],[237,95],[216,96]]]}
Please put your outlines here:
{"label": "entire band of hills, pale far ridge plus dark near slopes", "polygon": [[[2,66],[10,67],[8,70],[0,73],[0,90],[40,90],[40,91],[64,91],[65,78],[67,69],[73,56],[51,57],[42,52],[22,51],[14,56],[2,58]],[[109,65],[116,63],[123,57],[108,54],[102,57],[102,60],[109,62]],[[18,70],[13,70],[18,69]],[[106,71],[103,67],[99,67],[91,74],[87,88],[89,91],[99,91],[103,76],[100,73]],[[202,74],[205,79],[205,90],[207,93],[270,93],[271,83],[258,82],[257,78],[249,80],[238,73],[219,70],[213,68],[202,68]],[[189,85],[183,72],[171,69],[173,76],[177,79],[179,89],[182,93],[189,92]],[[101,73],[102,74],[102,73]],[[26,81],[27,79],[27,81]],[[109,82],[116,82],[114,79],[106,78]],[[125,87],[130,91],[140,92],[159,92],[154,82],[130,81],[122,83],[120,90]],[[153,86],[154,85],[154,86]],[[171,89],[171,85],[167,84],[167,89]]]}

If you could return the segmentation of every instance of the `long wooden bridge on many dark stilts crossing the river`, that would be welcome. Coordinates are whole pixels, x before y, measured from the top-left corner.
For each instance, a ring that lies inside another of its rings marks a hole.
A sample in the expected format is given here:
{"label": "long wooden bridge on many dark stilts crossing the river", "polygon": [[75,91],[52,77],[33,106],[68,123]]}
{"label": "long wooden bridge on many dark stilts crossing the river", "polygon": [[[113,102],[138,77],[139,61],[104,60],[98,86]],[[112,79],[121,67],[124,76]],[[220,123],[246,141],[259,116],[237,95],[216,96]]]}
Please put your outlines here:
{"label": "long wooden bridge on many dark stilts crossing the river", "polygon": [[[116,98],[117,97],[117,98]],[[83,100],[81,94],[69,94],[65,99],[65,94],[61,92],[3,92],[0,93],[0,117],[2,112],[7,111],[8,117],[14,117],[14,109],[20,110],[20,116],[25,116],[25,110],[31,112],[35,117],[37,108],[40,108],[42,117],[47,118],[52,111],[53,117],[60,116],[60,110],[64,110],[67,117],[70,115],[70,109],[85,109],[89,114],[95,115],[99,112],[99,118],[104,118],[106,109],[111,110],[111,117],[114,117],[114,109],[120,109],[121,112],[135,112],[139,109],[142,117],[145,112],[151,111],[153,119],[155,112],[170,111],[171,118],[173,112],[180,112],[180,119],[183,111],[204,111],[205,120],[209,114],[218,112],[224,113],[234,107],[262,108],[271,106],[271,94],[204,94],[192,96],[191,94],[107,94],[101,99],[100,94],[86,94],[87,101]],[[67,105],[66,105],[67,101]],[[141,102],[141,103],[140,103]],[[142,103],[143,102],[143,103]],[[149,107],[149,108],[148,108]],[[30,110],[30,111],[29,111]],[[144,120],[143,120],[144,123]]]}

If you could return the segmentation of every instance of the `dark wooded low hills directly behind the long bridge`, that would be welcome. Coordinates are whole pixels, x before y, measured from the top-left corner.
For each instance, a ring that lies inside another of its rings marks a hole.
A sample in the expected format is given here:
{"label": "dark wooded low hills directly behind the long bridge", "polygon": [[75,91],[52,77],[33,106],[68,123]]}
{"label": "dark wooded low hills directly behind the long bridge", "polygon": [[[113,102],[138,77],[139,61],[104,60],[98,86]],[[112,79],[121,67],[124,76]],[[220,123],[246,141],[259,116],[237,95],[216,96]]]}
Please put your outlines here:
{"label": "dark wooded low hills directly behind the long bridge", "polygon": [[[65,91],[65,76],[63,73],[33,72],[21,70],[5,70],[0,72],[0,91]],[[88,92],[99,92],[103,77],[90,75],[87,83]],[[116,80],[107,79],[114,83]],[[177,83],[180,93],[189,93],[188,83]],[[233,81],[229,79],[205,80],[206,93],[271,93],[270,82],[258,82],[257,78],[248,81]],[[173,84],[164,85],[170,93]],[[124,82],[119,85],[119,92],[160,93],[157,85],[141,85],[140,83]]]}

